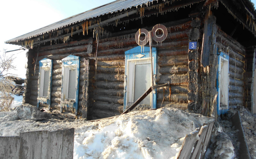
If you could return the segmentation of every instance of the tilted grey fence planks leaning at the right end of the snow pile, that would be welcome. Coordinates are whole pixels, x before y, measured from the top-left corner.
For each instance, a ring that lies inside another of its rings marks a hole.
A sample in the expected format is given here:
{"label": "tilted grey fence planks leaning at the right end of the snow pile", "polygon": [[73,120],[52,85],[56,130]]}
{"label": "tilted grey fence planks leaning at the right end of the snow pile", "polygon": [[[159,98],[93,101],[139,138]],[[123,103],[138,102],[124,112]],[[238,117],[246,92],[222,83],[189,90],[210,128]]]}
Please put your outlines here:
{"label": "tilted grey fence planks leaning at the right end of the snow pile", "polygon": [[[178,154],[178,159],[204,159],[210,143],[213,124],[214,121],[204,123],[200,130],[197,129],[187,134]],[[199,135],[199,140],[197,135]]]}

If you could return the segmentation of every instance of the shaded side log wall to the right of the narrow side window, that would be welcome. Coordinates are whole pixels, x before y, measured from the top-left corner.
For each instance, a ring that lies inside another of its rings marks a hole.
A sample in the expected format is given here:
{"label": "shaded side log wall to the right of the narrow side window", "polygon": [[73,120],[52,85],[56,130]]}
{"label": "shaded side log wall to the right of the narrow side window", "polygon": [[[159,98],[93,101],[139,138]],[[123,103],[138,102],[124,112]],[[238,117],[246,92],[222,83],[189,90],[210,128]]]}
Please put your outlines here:
{"label": "shaded side log wall to the right of the narrow side window", "polygon": [[245,47],[224,33],[217,31],[217,45],[229,55],[228,105],[244,105]]}

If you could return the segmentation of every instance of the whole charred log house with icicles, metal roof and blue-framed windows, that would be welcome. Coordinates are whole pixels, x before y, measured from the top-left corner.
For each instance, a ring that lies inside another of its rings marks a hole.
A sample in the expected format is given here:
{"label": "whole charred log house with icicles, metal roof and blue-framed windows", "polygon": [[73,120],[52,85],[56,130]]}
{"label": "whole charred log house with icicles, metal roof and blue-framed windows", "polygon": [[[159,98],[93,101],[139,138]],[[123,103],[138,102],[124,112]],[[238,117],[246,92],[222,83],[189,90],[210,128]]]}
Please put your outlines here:
{"label": "whole charred log house with icicles, metal roof and blue-framed windows", "polygon": [[5,43],[29,49],[23,103],[91,120],[119,115],[148,89],[149,43],[139,46],[135,35],[162,24],[166,39],[152,42],[154,84],[170,87],[139,109],[217,116],[236,105],[256,110],[255,18],[249,0],[117,0]]}

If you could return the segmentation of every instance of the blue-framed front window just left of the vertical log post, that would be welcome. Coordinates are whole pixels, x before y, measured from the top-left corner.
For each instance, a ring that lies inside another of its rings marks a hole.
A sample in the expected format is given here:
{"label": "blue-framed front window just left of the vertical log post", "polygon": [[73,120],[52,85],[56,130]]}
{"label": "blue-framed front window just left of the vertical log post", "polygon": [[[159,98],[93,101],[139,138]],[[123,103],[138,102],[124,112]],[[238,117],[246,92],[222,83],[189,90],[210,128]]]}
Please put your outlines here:
{"label": "blue-framed front window just left of the vertical log post", "polygon": [[78,91],[79,91],[79,56],[67,56],[62,59],[62,90],[61,90],[61,112],[63,107],[69,110],[78,110]]}

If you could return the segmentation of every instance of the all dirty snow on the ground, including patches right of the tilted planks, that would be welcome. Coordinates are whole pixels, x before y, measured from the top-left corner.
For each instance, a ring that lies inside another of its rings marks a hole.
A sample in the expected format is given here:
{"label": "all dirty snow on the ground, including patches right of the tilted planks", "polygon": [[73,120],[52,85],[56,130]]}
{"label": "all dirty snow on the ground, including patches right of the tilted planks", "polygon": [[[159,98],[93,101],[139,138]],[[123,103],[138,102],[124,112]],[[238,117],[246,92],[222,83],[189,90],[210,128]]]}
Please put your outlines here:
{"label": "all dirty snow on the ground, including patches right of the tilted planks", "polygon": [[[0,136],[19,132],[75,128],[74,158],[168,158],[180,151],[186,134],[201,127],[209,118],[174,108],[134,111],[98,121],[62,119],[32,106],[19,106],[22,96],[14,96],[15,106],[0,113]],[[240,111],[251,158],[256,159],[256,115],[244,107]],[[229,120],[236,110],[230,108],[223,120],[216,120],[206,159],[237,158],[237,132]]]}

